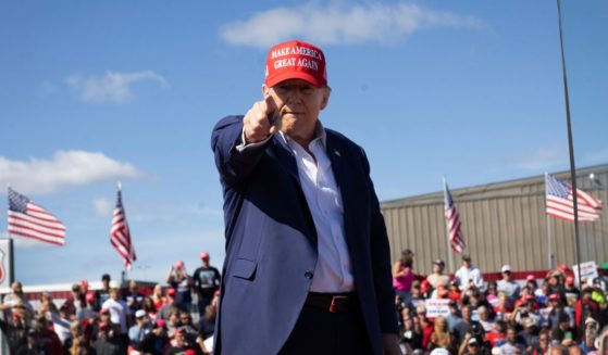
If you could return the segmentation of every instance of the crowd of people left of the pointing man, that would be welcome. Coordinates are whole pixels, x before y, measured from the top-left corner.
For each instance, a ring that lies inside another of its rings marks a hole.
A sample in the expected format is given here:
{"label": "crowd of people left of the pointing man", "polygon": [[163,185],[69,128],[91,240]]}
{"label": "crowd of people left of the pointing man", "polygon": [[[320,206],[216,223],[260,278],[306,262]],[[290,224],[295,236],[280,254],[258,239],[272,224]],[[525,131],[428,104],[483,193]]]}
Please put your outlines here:
{"label": "crowd of people left of the pointing man", "polygon": [[22,283],[15,281],[0,304],[0,328],[10,353],[209,354],[221,275],[209,264],[208,253],[201,253],[200,259],[191,275],[183,262],[172,265],[166,284],[147,292],[133,280],[123,288],[106,274],[101,289],[89,290],[83,280],[72,286],[64,302],[53,300],[51,292],[29,302]]}

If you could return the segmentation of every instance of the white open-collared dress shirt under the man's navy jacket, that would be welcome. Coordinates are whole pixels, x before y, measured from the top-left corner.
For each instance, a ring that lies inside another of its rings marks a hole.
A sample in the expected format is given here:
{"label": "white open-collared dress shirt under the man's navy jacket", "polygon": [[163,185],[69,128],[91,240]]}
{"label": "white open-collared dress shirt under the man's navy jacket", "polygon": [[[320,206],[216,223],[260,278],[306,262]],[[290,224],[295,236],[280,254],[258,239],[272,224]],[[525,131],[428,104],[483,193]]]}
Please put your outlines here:
{"label": "white open-collared dress shirt under the man's navy jacket", "polygon": [[[283,131],[278,135],[291,149],[296,159],[300,187],[317,230],[318,261],[310,291],[324,293],[352,291],[355,280],[344,233],[344,206],[332,170],[332,162],[326,153],[325,129],[319,122],[315,129],[317,138],[308,147],[314,156]],[[272,136],[269,137],[271,138]],[[245,135],[243,135],[243,142],[245,142]],[[237,150],[243,151],[263,142],[240,144]]]}

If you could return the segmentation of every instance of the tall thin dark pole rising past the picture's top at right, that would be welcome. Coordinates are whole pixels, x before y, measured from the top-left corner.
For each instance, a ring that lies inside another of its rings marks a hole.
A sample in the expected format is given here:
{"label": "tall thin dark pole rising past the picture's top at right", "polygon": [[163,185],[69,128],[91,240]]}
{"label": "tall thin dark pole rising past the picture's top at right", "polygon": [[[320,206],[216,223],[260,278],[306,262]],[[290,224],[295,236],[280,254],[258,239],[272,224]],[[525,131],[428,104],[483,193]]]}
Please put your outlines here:
{"label": "tall thin dark pole rising past the picture's top at right", "polygon": [[[579,199],[576,190],[576,168],[574,164],[574,141],[572,139],[572,119],[570,116],[570,94],[568,93],[568,74],[566,71],[566,55],[563,54],[563,33],[561,26],[561,1],[557,0],[557,15],[559,25],[559,47],[561,52],[561,75],[563,79],[563,97],[566,102],[566,125],[568,128],[568,153],[570,155],[570,177],[572,179],[572,203],[574,207],[574,246],[576,249],[576,268],[579,270],[579,278],[581,277],[581,245],[579,239]],[[579,280],[580,282],[580,280]],[[579,288],[579,300],[583,302],[583,288]],[[582,319],[584,325],[585,320]],[[585,339],[585,327],[581,327],[583,334],[582,339]]]}

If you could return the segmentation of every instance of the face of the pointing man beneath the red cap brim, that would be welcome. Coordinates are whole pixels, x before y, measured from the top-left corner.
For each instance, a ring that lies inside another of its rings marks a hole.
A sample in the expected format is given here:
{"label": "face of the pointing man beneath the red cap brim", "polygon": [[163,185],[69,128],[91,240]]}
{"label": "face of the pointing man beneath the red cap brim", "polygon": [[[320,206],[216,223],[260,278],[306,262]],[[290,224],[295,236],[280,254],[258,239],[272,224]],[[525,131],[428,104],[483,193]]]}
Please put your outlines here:
{"label": "face of the pointing man beneath the red cap brim", "polygon": [[319,121],[319,112],[327,105],[330,88],[318,88],[301,79],[281,81],[272,88],[262,86],[264,97],[272,96],[281,119],[281,130],[296,141],[309,141]]}

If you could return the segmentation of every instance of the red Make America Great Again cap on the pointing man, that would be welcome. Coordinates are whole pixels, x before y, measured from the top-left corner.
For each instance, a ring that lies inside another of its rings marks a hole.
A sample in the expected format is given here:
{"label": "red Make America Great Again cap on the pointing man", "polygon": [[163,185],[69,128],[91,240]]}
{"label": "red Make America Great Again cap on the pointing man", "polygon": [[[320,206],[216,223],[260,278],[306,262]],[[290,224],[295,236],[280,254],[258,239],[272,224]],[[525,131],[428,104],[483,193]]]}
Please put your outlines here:
{"label": "red Make America Great Again cap on the pointing man", "polygon": [[270,49],[264,84],[273,87],[288,79],[302,79],[318,88],[327,85],[325,54],[315,46],[291,40]]}

